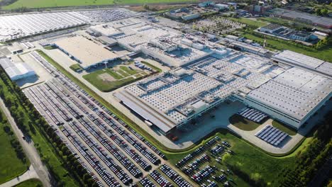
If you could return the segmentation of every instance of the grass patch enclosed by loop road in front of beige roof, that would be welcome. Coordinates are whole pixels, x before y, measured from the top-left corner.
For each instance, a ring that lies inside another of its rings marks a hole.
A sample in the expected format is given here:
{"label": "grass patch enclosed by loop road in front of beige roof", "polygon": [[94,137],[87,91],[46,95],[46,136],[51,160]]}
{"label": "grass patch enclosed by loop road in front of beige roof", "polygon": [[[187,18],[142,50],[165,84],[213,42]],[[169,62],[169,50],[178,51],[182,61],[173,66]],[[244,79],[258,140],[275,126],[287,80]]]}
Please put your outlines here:
{"label": "grass patch enclosed by loop road in front of beige roof", "polygon": [[[104,92],[113,91],[126,84],[130,84],[135,80],[139,80],[146,74],[136,69],[131,69],[126,66],[119,66],[117,70],[105,68],[86,74],[83,76],[84,79],[89,81],[92,85],[96,86],[97,89]],[[114,78],[113,81],[103,80],[100,78],[103,74],[109,74]]]}

